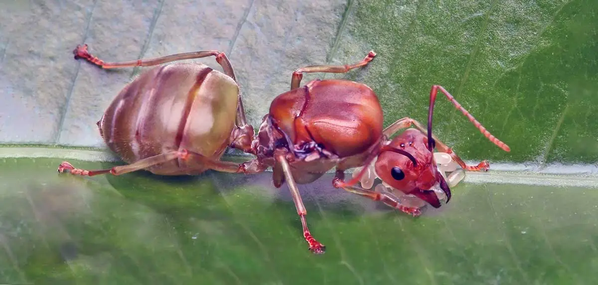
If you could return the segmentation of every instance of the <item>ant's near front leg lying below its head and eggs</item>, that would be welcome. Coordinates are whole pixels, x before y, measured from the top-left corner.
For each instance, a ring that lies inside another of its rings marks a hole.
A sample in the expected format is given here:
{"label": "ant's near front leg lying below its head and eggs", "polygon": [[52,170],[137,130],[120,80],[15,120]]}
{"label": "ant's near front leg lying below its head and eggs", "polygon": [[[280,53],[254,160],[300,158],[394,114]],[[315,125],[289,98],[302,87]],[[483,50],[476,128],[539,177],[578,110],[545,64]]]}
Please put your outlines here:
{"label": "ant's near front leg lying below its head and eggs", "polygon": [[358,194],[359,196],[366,197],[374,201],[380,201],[382,203],[385,203],[385,205],[389,207],[401,210],[402,212],[407,213],[409,215],[419,216],[422,214],[422,210],[419,207],[402,205],[399,199],[390,193],[381,193],[378,191],[366,190],[358,186],[340,186],[346,184],[343,181],[343,179],[344,171],[337,169],[336,175],[334,179],[332,179],[332,185],[335,188],[343,188],[347,192]]}

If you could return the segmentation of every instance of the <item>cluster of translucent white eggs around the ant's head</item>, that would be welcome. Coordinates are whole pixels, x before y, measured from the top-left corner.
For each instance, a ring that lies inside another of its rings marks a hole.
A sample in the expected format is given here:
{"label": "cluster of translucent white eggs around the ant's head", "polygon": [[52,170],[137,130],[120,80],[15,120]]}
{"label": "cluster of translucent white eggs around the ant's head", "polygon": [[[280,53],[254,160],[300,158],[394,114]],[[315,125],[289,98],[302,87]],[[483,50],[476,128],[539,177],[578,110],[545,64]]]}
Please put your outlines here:
{"label": "cluster of translucent white eggs around the ant's head", "polygon": [[[396,190],[386,182],[382,181],[380,176],[376,174],[376,167],[374,166],[376,165],[377,159],[378,158],[376,157],[369,165],[365,166],[367,167],[367,169],[364,175],[361,177],[361,180],[359,180],[359,182],[361,182],[361,187],[365,189],[371,189],[374,186],[374,182],[377,178],[380,179],[381,183],[376,185],[376,187],[374,188],[375,191],[392,193],[395,196],[401,198],[413,197],[414,199],[417,199],[415,196],[411,194],[404,194],[402,193],[402,191]],[[443,178],[447,181],[449,187],[452,188],[456,186],[457,184],[459,184],[459,182],[463,180],[463,178],[465,178],[465,170],[460,168],[459,164],[454,162],[450,154],[440,152],[434,153],[434,161],[436,162],[438,172],[440,172],[440,174],[443,175]],[[353,178],[355,178],[363,168],[364,166],[355,168],[355,170],[353,170]],[[431,190],[435,191],[435,193],[438,196],[438,199],[446,199],[446,194],[444,194],[444,191],[437,186],[438,184],[436,184],[435,187],[433,187]]]}

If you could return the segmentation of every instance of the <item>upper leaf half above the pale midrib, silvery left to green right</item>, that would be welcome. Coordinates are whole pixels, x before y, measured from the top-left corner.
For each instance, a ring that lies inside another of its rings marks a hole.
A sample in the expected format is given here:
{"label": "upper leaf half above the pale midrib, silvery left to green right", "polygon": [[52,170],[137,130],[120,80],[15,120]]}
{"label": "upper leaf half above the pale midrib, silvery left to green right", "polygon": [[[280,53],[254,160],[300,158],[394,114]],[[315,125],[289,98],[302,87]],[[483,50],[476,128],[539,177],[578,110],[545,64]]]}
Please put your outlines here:
{"label": "upper leaf half above the pale midrib, silvery left to green right", "polygon": [[[385,124],[425,120],[443,85],[504,153],[440,98],[434,127],[465,159],[595,163],[598,13],[593,1],[3,1],[0,140],[103,147],[95,122],[139,69],[75,61],[83,42],[108,61],[175,52],[227,52],[259,125],[291,73],[346,64],[372,86]],[[215,68],[213,58],[200,60]]]}

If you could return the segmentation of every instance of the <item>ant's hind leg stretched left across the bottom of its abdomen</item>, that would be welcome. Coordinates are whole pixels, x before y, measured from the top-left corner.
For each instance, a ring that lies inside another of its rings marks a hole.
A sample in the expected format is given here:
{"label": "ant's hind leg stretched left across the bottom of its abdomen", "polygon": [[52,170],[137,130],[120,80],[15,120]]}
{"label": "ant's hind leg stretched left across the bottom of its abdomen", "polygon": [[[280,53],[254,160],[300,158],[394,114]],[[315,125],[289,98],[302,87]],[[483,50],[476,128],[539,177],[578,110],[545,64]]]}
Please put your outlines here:
{"label": "ant's hind leg stretched left across the bottom of its abdomen", "polygon": [[69,162],[62,162],[58,167],[58,172],[63,173],[65,171],[68,171],[72,175],[81,176],[95,176],[100,174],[123,175],[129,172],[139,171],[141,169],[148,168],[149,166],[158,165],[160,163],[168,162],[174,159],[196,159],[208,166],[209,169],[221,172],[255,174],[258,172],[262,172],[266,169],[266,167],[258,163],[257,160],[251,160],[249,162],[237,164],[233,162],[222,162],[220,160],[213,160],[206,156],[203,156],[202,154],[194,153],[192,151],[180,150],[158,154],[157,156],[152,156],[146,159],[138,160],[137,162],[131,163],[129,165],[115,166],[109,169],[100,169],[93,171],[78,169],[72,166]]}

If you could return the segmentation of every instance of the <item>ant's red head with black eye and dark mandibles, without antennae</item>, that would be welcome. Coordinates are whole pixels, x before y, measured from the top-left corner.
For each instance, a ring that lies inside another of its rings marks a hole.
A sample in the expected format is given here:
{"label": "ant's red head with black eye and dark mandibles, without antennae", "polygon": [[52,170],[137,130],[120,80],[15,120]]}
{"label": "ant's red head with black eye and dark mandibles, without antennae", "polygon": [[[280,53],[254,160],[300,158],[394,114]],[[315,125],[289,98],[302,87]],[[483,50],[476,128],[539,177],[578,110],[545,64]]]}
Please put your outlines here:
{"label": "ant's red head with black eye and dark mandibles, without antennae", "polygon": [[434,154],[428,148],[428,138],[417,129],[407,129],[382,148],[375,164],[376,174],[386,184],[413,194],[433,207],[440,207],[434,190],[438,181],[450,199],[450,190],[434,162]]}

